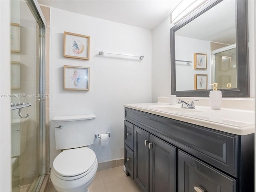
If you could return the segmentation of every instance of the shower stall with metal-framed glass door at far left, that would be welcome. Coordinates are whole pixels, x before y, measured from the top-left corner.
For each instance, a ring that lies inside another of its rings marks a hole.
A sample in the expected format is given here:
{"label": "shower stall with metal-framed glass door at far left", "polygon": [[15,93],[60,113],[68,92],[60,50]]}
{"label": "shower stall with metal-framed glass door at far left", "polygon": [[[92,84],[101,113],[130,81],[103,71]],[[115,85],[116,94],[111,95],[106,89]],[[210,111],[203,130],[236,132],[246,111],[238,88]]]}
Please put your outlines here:
{"label": "shower stall with metal-framed glass door at far left", "polygon": [[11,0],[12,192],[37,192],[45,171],[45,21],[37,2]]}

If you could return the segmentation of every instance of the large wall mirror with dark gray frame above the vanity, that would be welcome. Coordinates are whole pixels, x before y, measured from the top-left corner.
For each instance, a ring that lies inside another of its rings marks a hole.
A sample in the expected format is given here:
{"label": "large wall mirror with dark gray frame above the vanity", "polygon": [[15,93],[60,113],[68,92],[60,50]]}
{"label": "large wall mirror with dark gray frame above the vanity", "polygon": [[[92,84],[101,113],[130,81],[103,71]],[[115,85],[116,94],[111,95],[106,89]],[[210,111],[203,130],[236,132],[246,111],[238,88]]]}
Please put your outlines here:
{"label": "large wall mirror with dark gray frame above the vanity", "polygon": [[249,97],[247,0],[211,0],[170,29],[172,94]]}

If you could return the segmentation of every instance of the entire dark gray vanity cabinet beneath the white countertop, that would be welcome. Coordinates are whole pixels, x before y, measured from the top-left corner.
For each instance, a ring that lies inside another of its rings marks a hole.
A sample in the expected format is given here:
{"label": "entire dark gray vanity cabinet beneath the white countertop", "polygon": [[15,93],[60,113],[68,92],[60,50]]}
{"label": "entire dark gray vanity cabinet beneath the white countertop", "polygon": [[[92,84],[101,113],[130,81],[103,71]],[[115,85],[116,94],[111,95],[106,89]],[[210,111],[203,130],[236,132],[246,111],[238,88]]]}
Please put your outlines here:
{"label": "entire dark gray vanity cabinet beneath the white countertop", "polygon": [[124,125],[126,175],[142,191],[254,192],[254,134],[230,134],[131,108],[125,108]]}

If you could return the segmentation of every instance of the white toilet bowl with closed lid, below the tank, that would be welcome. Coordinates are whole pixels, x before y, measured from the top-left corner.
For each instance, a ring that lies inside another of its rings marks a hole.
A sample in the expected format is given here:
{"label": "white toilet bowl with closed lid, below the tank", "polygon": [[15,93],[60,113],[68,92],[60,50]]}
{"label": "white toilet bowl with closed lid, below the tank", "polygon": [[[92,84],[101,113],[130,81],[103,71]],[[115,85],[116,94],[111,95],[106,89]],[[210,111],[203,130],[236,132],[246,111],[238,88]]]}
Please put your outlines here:
{"label": "white toilet bowl with closed lid, below the tank", "polygon": [[50,177],[58,192],[87,192],[97,168],[96,155],[90,148],[69,149],[54,159]]}

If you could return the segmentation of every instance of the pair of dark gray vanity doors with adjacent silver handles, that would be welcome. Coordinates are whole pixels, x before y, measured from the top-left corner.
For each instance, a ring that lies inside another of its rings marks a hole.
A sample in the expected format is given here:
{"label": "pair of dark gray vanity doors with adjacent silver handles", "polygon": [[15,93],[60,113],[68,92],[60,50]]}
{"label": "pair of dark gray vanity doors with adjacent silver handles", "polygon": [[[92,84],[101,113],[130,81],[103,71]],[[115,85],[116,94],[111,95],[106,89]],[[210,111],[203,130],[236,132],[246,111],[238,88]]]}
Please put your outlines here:
{"label": "pair of dark gray vanity doors with adjacent silver handles", "polygon": [[175,192],[176,148],[134,126],[134,180],[145,192]]}

